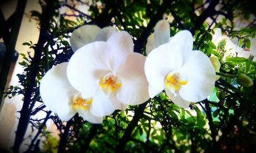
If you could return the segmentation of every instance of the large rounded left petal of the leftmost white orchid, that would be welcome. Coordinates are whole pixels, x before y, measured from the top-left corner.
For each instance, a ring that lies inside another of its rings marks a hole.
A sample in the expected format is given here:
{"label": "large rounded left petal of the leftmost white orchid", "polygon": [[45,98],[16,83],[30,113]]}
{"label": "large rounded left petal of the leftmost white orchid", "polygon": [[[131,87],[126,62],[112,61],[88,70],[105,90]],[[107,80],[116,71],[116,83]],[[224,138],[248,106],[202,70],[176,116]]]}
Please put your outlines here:
{"label": "large rounded left petal of the leftmost white orchid", "polygon": [[71,100],[78,92],[67,80],[67,64],[68,62],[65,62],[52,67],[43,76],[40,85],[41,98],[46,107],[57,113],[63,121],[68,121],[75,115]]}

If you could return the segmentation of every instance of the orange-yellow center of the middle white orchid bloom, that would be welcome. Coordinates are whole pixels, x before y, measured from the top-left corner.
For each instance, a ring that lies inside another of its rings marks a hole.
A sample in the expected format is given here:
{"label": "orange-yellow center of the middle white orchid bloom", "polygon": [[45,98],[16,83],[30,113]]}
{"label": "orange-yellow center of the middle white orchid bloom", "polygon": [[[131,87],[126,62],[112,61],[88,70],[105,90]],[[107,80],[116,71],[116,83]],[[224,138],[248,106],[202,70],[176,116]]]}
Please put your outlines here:
{"label": "orange-yellow center of the middle white orchid bloom", "polygon": [[117,76],[114,76],[112,74],[102,77],[99,84],[107,95],[110,95],[111,93],[115,92],[122,85],[121,81],[117,79]]}

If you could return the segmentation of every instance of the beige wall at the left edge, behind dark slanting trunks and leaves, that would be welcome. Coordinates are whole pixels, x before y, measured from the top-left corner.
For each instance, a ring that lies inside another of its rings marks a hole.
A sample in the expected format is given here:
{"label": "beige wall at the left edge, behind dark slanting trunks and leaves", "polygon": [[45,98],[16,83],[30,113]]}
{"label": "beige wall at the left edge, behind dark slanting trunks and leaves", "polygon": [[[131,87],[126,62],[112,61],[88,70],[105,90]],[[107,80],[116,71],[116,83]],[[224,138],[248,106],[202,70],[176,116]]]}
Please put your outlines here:
{"label": "beige wall at the left edge, behind dark slanting trunks and leaves", "polygon": [[[4,3],[1,6],[1,9],[4,13],[4,17],[7,19],[11,14],[15,11],[17,5],[16,0],[11,0],[6,3]],[[36,0],[28,0],[25,13],[29,13],[31,10],[41,10],[40,5],[38,4],[38,1]],[[24,53],[27,55],[27,51],[31,51],[33,55],[33,50],[29,50],[28,46],[23,46],[23,42],[29,42],[32,41],[33,43],[36,43],[39,37],[39,29],[37,27],[36,21],[29,20],[29,18],[24,15],[23,20],[21,23],[21,28],[19,30],[18,39],[16,43],[16,50],[18,53]],[[2,41],[2,40],[0,40]],[[19,56],[18,61],[22,61],[22,57]],[[16,65],[14,68],[14,72],[12,75],[12,79],[10,82],[10,85],[18,85],[18,77],[16,76],[17,73],[21,73],[23,71],[23,68],[20,65]],[[13,146],[14,141],[14,131],[16,131],[17,128],[17,117],[19,114],[17,113],[18,110],[22,107],[22,95],[15,96],[11,99],[6,98],[4,100],[4,105],[0,114],[0,148],[1,149],[8,149],[9,147]],[[30,131],[30,130],[28,130]],[[24,143],[23,143],[24,144]],[[24,146],[24,145],[23,145]],[[22,150],[25,150],[26,148],[23,147]]]}

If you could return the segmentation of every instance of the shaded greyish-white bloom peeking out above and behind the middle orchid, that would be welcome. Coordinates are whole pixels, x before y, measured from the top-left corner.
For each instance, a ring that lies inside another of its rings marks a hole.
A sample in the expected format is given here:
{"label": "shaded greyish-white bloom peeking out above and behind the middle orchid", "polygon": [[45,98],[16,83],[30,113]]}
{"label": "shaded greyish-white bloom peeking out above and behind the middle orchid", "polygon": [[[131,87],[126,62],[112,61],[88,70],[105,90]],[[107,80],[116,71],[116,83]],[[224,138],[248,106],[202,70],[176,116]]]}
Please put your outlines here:
{"label": "shaded greyish-white bloom peeking out above and behind the middle orchid", "polygon": [[70,45],[73,52],[79,48],[95,41],[107,41],[109,37],[116,33],[114,27],[100,28],[96,25],[85,25],[75,29],[70,38]]}

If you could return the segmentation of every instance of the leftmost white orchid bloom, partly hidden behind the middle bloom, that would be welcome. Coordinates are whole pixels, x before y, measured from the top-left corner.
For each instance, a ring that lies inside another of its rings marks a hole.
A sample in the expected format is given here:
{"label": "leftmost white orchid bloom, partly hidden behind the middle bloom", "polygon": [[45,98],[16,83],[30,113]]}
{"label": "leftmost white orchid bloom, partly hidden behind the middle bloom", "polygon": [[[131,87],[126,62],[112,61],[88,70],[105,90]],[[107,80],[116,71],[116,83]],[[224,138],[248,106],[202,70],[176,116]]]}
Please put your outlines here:
{"label": "leftmost white orchid bloom, partly hidden behind the middle bloom", "polygon": [[67,80],[68,62],[52,67],[43,76],[40,93],[46,107],[57,113],[63,121],[70,120],[76,112],[83,119],[93,124],[100,124],[103,121],[102,113],[95,112],[95,108],[108,115],[114,112],[115,108],[104,95],[93,98],[83,98],[81,93],[71,86]]}

